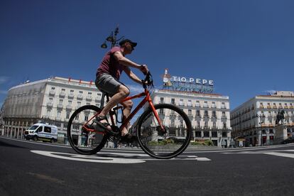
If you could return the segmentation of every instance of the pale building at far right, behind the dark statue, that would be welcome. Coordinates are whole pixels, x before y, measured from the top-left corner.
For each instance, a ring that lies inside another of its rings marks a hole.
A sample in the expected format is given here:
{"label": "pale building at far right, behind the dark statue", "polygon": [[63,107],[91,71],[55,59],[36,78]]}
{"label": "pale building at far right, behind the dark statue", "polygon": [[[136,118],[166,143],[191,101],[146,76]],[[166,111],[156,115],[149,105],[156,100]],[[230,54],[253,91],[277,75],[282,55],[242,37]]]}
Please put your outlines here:
{"label": "pale building at far right, behind the dark statue", "polygon": [[[261,146],[281,143],[294,133],[294,92],[276,92],[271,95],[258,95],[232,110],[232,137],[244,139],[246,146]],[[277,115],[284,111],[280,124],[286,135],[277,134]]]}

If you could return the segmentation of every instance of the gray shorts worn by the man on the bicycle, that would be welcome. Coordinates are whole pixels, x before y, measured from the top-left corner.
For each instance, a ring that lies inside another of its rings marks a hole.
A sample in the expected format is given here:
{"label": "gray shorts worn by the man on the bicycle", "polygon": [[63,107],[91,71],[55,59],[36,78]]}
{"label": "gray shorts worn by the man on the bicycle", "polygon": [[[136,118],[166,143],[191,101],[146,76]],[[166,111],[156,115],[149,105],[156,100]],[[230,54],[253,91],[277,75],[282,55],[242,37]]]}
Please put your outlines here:
{"label": "gray shorts worn by the man on the bicycle", "polygon": [[[101,92],[106,92],[112,97],[119,92],[119,86],[124,84],[116,80],[112,75],[102,74],[96,78],[95,85]],[[126,85],[124,86],[126,87]]]}

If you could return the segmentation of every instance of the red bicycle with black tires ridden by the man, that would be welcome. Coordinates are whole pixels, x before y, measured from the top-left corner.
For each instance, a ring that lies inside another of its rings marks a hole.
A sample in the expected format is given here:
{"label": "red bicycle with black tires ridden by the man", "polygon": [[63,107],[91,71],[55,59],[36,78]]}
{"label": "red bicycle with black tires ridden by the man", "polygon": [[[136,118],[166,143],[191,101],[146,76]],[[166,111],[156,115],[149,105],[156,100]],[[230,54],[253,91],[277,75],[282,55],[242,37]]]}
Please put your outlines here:
{"label": "red bicycle with black tires ridden by the man", "polygon": [[[153,105],[153,80],[150,72],[146,74],[143,84],[144,92],[123,100],[124,102],[143,97],[127,119],[119,121],[118,111],[122,111],[121,106],[109,111],[112,131],[95,129],[95,117],[102,110],[99,107],[85,105],[77,109],[67,124],[67,136],[72,148],[77,153],[92,155],[100,151],[107,141],[120,142],[121,130],[128,126],[140,109],[144,108],[143,114],[132,126],[142,150],[154,158],[173,158],[183,153],[190,143],[190,119],[182,109],[173,104]],[[148,106],[143,107],[145,104]],[[121,125],[117,126],[118,123]]]}

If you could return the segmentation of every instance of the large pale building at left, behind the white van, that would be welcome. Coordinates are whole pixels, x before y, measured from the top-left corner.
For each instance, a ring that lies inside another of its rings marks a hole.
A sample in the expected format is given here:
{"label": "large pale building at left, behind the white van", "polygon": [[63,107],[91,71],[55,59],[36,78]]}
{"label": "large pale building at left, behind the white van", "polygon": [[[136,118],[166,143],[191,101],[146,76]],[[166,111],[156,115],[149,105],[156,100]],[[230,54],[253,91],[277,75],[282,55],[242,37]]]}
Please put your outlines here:
{"label": "large pale building at left, behind the white van", "polygon": [[58,126],[58,140],[67,141],[67,122],[75,109],[100,106],[102,93],[93,82],[53,77],[9,89],[3,105],[4,136],[23,138],[23,131],[43,121]]}

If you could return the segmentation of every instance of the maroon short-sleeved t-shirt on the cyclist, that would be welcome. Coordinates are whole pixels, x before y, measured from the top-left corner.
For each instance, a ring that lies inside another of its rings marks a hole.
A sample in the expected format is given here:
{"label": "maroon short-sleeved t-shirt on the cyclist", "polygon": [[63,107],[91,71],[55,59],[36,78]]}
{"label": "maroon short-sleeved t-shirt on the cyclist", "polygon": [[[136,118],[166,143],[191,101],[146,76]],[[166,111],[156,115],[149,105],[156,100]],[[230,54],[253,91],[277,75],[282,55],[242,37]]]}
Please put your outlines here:
{"label": "maroon short-sleeved t-shirt on the cyclist", "polygon": [[121,72],[123,70],[124,65],[120,65],[119,61],[114,58],[114,53],[117,51],[121,51],[121,48],[114,47],[111,48],[105,55],[104,58],[97,69],[96,76],[100,76],[102,74],[112,75],[114,78],[119,80],[121,76]]}

